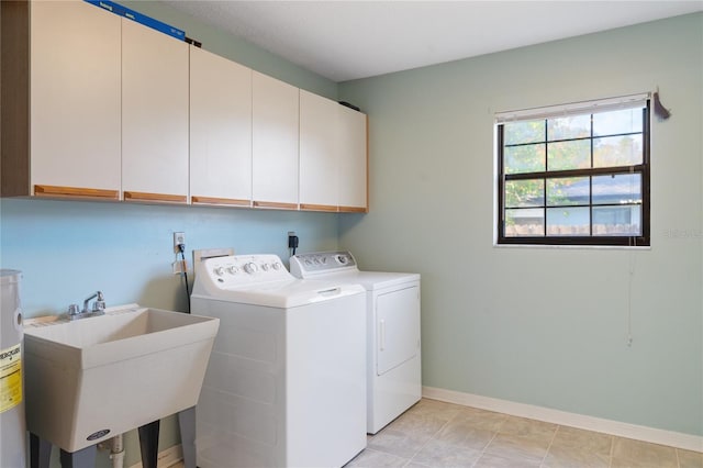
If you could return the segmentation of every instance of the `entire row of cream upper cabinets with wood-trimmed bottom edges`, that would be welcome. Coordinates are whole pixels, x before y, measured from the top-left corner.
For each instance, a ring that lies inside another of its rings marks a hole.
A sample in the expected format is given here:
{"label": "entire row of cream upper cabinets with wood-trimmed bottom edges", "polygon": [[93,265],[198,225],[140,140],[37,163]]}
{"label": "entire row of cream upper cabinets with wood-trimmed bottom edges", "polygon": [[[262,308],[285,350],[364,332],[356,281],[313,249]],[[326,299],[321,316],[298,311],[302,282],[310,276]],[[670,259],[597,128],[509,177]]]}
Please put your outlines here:
{"label": "entire row of cream upper cabinets with wood-trimmed bottom edges", "polygon": [[368,210],[365,114],[85,1],[0,4],[3,197]]}

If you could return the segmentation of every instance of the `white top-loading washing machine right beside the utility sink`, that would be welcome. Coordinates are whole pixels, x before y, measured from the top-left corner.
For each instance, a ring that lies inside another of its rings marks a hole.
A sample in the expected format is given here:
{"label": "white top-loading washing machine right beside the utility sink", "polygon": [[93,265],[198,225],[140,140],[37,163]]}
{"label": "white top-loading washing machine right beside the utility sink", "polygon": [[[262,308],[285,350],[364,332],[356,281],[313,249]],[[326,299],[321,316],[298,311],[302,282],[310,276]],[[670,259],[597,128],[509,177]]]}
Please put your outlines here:
{"label": "white top-loading washing machine right beside the utility sink", "polygon": [[366,302],[276,255],[198,260],[193,314],[220,319],[196,410],[200,468],[339,467],[366,447]]}

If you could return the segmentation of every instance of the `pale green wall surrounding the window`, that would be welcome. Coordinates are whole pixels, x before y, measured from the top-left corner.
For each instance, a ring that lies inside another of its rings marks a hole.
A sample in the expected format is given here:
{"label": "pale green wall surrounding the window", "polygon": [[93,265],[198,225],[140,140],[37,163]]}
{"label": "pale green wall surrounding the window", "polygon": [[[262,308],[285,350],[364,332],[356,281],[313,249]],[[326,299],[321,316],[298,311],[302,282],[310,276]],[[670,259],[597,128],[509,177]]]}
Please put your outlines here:
{"label": "pale green wall surrounding the window", "polygon": [[[493,246],[496,111],[652,91],[651,248]],[[703,435],[703,15],[342,83],[369,114],[367,269],[422,274],[423,383]],[[632,346],[626,343],[632,310]]]}

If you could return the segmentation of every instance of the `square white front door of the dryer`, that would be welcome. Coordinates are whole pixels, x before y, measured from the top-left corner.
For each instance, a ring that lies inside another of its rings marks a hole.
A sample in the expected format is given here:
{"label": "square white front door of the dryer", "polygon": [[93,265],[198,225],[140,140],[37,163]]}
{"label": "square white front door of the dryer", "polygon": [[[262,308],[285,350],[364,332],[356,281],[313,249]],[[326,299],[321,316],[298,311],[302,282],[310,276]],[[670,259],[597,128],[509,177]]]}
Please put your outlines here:
{"label": "square white front door of the dryer", "polygon": [[376,299],[376,374],[381,376],[420,353],[420,287]]}

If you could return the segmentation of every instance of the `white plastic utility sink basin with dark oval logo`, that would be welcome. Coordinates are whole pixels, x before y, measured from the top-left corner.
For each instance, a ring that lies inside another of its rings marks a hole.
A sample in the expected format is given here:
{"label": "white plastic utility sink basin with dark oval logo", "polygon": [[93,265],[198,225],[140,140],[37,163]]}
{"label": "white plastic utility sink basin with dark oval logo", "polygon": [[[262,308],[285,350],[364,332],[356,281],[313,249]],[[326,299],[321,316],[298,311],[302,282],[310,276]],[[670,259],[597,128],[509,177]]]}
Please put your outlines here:
{"label": "white plastic utility sink basin with dark oval logo", "polygon": [[130,304],[27,325],[27,430],[77,452],[194,406],[217,319]]}

